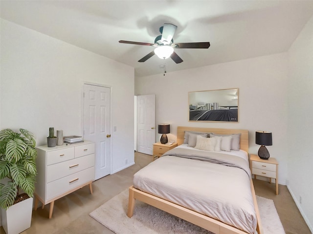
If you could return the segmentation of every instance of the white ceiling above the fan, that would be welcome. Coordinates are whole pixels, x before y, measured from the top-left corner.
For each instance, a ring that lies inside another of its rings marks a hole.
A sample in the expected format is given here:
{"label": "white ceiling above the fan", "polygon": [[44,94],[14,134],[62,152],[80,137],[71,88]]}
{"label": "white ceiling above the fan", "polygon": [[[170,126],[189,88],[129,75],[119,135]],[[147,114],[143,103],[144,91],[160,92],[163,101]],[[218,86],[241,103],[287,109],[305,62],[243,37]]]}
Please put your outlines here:
{"label": "white ceiling above the fan", "polygon": [[153,43],[164,23],[174,42],[209,41],[208,49],[176,49],[167,72],[287,51],[313,15],[313,0],[1,0],[1,18],[128,64],[136,76],[163,74]]}

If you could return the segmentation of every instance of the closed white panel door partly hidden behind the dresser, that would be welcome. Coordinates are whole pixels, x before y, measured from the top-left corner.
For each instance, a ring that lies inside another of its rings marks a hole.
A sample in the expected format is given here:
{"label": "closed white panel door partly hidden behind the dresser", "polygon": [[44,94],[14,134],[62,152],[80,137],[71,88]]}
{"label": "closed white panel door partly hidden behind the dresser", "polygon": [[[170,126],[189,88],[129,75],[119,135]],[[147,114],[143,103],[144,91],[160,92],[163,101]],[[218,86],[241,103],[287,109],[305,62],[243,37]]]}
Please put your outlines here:
{"label": "closed white panel door partly hidden behind the dresser", "polygon": [[95,142],[95,179],[111,173],[108,87],[84,84],[84,138]]}

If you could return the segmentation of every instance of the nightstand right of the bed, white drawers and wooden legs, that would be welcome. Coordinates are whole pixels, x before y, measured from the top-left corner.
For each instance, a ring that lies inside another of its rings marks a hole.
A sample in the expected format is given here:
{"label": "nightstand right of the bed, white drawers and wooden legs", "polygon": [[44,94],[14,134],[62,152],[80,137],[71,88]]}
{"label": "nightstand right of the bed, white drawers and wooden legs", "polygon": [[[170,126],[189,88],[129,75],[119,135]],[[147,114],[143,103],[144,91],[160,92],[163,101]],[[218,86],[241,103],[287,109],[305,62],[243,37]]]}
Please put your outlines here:
{"label": "nightstand right of the bed, white drawers and wooden legs", "polygon": [[265,176],[269,178],[269,183],[274,178],[276,181],[276,195],[278,195],[278,162],[274,157],[265,160],[257,155],[250,155],[250,169],[254,178],[256,176]]}

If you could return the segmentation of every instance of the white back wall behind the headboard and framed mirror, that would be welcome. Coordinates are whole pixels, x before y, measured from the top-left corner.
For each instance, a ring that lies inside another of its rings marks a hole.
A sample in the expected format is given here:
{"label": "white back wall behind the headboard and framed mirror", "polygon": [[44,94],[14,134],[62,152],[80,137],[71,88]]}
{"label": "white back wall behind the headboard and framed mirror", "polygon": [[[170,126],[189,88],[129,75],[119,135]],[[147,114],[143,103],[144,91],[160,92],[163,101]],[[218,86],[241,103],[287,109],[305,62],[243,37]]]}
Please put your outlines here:
{"label": "white back wall behind the headboard and framed mirror", "polygon": [[[170,61],[169,61],[170,62]],[[255,131],[272,132],[270,156],[279,162],[279,183],[287,179],[287,53],[135,78],[135,94],[156,94],[156,125],[249,130],[249,153],[257,154]],[[239,88],[239,122],[188,122],[188,92]],[[156,139],[159,139],[157,134]]]}

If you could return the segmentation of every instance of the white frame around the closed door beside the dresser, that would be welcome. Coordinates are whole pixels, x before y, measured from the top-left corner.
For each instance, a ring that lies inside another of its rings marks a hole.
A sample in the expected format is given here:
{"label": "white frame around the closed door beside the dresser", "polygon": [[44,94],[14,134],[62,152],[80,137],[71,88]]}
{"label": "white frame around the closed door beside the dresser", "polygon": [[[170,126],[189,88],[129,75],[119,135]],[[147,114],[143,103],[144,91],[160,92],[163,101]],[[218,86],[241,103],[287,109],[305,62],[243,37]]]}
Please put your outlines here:
{"label": "white frame around the closed door beside the dresser", "polygon": [[[110,134],[112,134],[112,86],[111,85],[106,85],[106,84],[99,84],[99,83],[93,83],[89,81],[82,81],[81,84],[81,131],[84,136],[84,85],[89,84],[89,85],[95,85],[95,86],[100,86],[100,87],[105,87],[110,89]],[[112,168],[113,168],[113,163],[112,163],[112,138],[110,140],[110,175],[112,175]]]}

